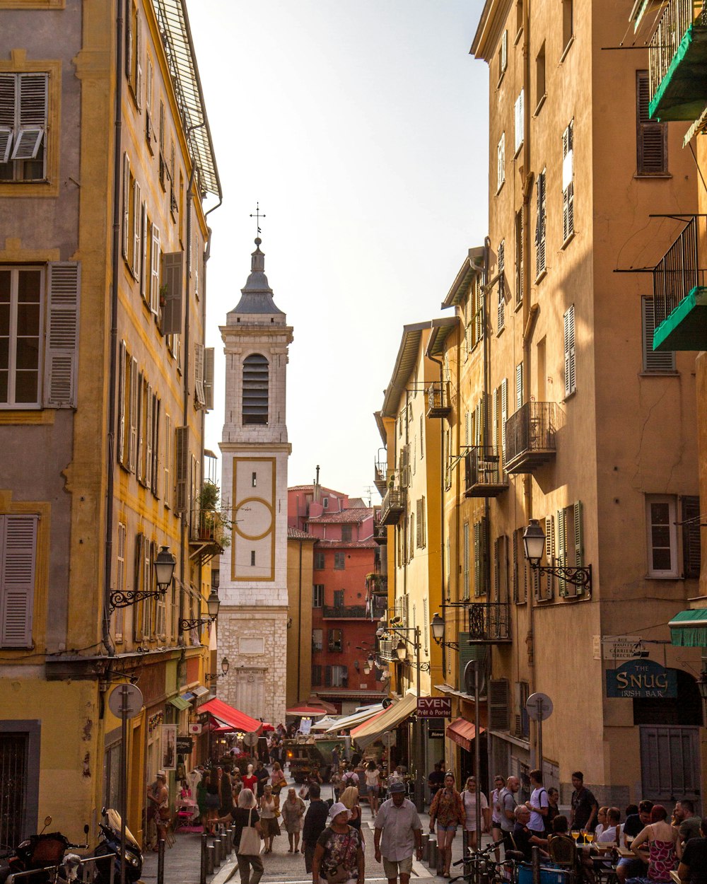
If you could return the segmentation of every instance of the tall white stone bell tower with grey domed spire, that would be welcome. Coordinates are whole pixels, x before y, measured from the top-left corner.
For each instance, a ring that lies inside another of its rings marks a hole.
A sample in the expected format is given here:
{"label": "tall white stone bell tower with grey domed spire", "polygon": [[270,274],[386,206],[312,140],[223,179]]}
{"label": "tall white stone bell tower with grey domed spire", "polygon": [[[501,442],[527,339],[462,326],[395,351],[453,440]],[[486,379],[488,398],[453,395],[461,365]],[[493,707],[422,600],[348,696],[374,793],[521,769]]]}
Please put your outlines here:
{"label": "tall white stone bell tower with grey domed spire", "polygon": [[221,487],[232,517],[221,556],[218,694],[242,712],[285,721],[287,647],[287,347],[293,330],[272,300],[255,240],[238,306],[221,326],[226,357]]}

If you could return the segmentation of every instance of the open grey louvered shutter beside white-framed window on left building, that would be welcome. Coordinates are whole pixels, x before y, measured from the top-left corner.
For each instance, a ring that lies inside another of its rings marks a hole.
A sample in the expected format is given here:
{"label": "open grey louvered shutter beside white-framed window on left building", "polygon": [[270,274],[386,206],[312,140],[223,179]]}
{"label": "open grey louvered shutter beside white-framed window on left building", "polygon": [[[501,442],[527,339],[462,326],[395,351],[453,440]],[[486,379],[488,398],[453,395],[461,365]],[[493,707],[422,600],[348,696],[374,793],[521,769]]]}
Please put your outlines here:
{"label": "open grey louvered shutter beside white-framed window on left building", "polygon": [[49,264],[45,408],[76,408],[80,286],[80,263]]}

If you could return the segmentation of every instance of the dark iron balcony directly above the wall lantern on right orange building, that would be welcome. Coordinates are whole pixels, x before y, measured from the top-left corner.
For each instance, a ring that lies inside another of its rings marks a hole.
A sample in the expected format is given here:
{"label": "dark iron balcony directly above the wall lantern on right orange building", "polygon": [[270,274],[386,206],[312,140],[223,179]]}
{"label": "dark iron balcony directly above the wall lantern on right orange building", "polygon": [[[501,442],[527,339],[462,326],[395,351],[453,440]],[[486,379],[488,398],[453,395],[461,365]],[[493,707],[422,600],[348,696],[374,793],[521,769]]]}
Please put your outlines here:
{"label": "dark iron balcony directly above the wall lantern on right orange building", "polygon": [[555,456],[558,407],[526,402],[506,421],[506,473],[532,473]]}

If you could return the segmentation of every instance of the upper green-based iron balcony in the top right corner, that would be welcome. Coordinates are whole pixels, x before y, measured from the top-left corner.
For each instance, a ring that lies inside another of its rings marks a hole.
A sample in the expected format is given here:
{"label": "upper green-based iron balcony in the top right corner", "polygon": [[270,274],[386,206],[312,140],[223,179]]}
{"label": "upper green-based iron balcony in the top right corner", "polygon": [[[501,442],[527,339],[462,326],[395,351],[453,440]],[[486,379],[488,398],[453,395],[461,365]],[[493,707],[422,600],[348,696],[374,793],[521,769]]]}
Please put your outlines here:
{"label": "upper green-based iron balcony in the top right corner", "polygon": [[694,120],[707,103],[707,10],[668,0],[650,41],[651,118]]}

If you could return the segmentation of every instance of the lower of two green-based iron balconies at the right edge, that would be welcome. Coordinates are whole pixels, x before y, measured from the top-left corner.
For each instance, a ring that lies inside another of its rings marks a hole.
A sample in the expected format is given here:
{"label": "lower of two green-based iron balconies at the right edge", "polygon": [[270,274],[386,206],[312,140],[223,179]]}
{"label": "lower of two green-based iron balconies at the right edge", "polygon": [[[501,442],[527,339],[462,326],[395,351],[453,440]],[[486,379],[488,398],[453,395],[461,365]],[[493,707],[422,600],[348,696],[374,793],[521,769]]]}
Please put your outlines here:
{"label": "lower of two green-based iron balconies at the right edge", "polygon": [[654,350],[707,347],[707,287],[699,258],[706,226],[705,218],[690,218],[653,271]]}

